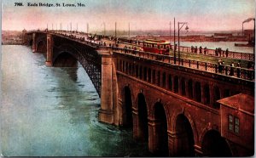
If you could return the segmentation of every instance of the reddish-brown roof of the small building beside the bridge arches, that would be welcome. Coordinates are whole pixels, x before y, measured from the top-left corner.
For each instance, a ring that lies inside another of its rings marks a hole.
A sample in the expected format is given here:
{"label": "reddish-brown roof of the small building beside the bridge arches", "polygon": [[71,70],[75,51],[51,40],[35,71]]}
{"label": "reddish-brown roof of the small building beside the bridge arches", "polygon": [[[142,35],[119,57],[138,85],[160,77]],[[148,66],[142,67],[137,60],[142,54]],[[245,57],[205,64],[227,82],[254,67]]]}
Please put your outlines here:
{"label": "reddish-brown roof of the small building beside the bridge arches", "polygon": [[239,93],[217,101],[224,106],[254,114],[254,97],[245,93]]}

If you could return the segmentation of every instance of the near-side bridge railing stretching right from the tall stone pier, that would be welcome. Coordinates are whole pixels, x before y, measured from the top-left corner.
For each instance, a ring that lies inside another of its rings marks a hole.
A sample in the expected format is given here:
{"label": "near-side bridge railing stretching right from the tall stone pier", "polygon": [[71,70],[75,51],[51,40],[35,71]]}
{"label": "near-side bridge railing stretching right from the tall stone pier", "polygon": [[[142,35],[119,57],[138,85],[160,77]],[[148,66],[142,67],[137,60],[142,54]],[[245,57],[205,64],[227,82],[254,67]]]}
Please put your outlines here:
{"label": "near-side bridge railing stretching right from the tall stone pier", "polygon": [[133,56],[137,56],[144,59],[152,59],[157,60],[163,63],[179,65],[183,67],[188,67],[191,69],[199,70],[199,71],[207,71],[211,73],[221,74],[224,76],[237,77],[245,80],[254,80],[254,70],[245,69],[241,67],[234,67],[229,65],[218,65],[215,63],[197,61],[193,59],[178,59],[176,61],[174,57],[169,55],[162,54],[153,54],[149,52],[142,52],[138,50],[133,50],[129,48],[113,48],[113,51],[116,51],[121,54],[130,54]]}

